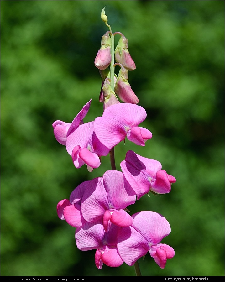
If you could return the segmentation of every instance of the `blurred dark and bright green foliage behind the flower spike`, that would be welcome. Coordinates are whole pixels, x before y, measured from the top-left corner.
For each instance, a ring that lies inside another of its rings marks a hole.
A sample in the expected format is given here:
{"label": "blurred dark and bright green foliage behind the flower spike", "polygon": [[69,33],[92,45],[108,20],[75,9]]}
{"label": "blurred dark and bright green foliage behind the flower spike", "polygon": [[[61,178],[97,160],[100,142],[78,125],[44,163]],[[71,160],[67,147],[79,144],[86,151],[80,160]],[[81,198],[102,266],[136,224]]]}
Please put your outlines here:
{"label": "blurred dark and bright green foliage behind the flower spike", "polygon": [[[175,176],[169,194],[143,196],[129,210],[170,222],[175,249],[165,269],[149,253],[143,276],[224,276],[224,1],[1,1],[1,276],[135,276],[125,263],[96,268],[57,203],[111,169],[76,169],[54,137],[91,98],[85,122],[102,115],[94,66],[108,30],[128,38],[129,82],[153,133],[128,150],[157,159]],[[118,38],[116,37],[116,40]],[[116,72],[118,70],[116,69]]]}

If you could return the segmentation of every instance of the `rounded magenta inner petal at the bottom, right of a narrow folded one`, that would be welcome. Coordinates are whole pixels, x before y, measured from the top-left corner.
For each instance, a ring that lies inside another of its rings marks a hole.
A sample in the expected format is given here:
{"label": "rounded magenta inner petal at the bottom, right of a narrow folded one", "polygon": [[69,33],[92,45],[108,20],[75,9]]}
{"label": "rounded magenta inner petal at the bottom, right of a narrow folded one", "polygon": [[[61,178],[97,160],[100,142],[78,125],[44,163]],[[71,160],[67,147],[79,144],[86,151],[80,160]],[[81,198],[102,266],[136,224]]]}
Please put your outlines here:
{"label": "rounded magenta inner petal at the bottom, right of a narrow folded one", "polygon": [[123,259],[121,259],[116,247],[106,246],[104,253],[102,253],[102,261],[111,267],[118,267],[123,264]]}

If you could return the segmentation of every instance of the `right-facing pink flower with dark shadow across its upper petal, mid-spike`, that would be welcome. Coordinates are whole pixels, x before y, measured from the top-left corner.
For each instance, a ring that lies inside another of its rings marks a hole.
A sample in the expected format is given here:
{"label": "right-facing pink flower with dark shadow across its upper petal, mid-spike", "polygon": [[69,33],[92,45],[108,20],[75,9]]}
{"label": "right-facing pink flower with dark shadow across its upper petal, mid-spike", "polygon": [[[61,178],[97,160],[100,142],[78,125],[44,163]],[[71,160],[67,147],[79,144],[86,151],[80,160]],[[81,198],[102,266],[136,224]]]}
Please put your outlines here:
{"label": "right-facing pink flower with dark shadow across its upper petal, mid-spike", "polygon": [[171,184],[176,182],[175,177],[162,170],[159,161],[144,158],[133,151],[127,152],[120,166],[138,200],[149,191],[157,194],[169,193]]}

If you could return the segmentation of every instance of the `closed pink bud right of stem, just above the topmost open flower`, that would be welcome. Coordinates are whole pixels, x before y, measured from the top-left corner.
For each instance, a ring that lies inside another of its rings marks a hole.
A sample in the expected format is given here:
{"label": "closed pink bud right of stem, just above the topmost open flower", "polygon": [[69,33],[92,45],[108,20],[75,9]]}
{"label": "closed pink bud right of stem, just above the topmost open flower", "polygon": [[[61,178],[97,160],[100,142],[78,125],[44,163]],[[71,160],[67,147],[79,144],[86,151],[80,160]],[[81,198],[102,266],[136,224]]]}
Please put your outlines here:
{"label": "closed pink bud right of stem, just above the topmost open flower", "polygon": [[138,104],[139,99],[134,94],[128,82],[128,70],[121,64],[117,63],[115,65],[119,65],[121,67],[115,84],[115,93],[118,95],[120,100],[125,103]]}

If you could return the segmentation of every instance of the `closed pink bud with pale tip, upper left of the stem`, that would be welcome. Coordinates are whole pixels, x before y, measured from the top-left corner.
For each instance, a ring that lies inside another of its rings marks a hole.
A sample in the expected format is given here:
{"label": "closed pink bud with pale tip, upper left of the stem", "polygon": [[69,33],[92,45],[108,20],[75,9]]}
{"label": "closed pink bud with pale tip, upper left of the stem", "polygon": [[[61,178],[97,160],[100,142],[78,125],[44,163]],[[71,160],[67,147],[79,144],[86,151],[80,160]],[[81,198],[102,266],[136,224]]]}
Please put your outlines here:
{"label": "closed pink bud with pale tip, upper left of the stem", "polygon": [[95,66],[99,70],[105,70],[111,63],[111,38],[109,36],[110,31],[102,36],[101,48],[95,58]]}

